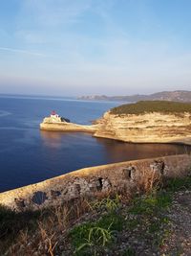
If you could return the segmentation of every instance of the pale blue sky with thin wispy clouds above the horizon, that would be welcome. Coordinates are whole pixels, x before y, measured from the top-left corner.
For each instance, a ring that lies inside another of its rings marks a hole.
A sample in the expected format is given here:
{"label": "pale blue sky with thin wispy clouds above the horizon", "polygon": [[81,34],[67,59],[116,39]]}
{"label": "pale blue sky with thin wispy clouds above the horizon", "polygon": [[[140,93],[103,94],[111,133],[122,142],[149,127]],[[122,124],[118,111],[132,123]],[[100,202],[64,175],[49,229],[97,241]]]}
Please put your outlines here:
{"label": "pale blue sky with thin wispy clouds above the horizon", "polygon": [[0,93],[191,88],[190,0],[0,1]]}

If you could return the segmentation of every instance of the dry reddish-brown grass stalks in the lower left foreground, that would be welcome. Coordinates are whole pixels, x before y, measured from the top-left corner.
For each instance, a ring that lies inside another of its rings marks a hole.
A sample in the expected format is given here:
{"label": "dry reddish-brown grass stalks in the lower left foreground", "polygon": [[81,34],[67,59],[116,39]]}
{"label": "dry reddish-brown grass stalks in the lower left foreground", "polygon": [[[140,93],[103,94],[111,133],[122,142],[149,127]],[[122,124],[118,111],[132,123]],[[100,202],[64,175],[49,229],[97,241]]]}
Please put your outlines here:
{"label": "dry reddish-brown grass stalks in the lower left foreground", "polygon": [[88,201],[81,198],[42,212],[43,217],[37,221],[36,230],[21,230],[7,255],[55,255],[57,249],[65,247],[70,227],[90,211]]}

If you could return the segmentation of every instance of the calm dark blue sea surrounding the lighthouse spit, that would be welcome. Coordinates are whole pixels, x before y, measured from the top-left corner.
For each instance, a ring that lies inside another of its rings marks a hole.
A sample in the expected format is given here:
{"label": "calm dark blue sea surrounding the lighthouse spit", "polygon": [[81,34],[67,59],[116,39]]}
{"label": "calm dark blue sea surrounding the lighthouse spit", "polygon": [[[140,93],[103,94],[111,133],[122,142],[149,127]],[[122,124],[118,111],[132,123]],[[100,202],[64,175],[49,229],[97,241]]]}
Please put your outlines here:
{"label": "calm dark blue sea surrounding the lighthouse spit", "polygon": [[39,129],[52,110],[88,125],[117,105],[121,103],[0,95],[0,192],[85,167],[191,151],[181,145],[130,144],[82,132]]}

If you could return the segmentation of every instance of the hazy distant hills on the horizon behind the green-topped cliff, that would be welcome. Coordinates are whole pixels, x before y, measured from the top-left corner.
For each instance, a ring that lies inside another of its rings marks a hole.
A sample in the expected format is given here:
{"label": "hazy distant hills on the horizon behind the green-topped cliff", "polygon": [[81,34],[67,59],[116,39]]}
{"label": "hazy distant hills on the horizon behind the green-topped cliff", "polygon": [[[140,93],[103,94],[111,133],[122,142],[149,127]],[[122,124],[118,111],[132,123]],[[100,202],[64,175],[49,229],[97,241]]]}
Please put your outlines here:
{"label": "hazy distant hills on the horizon behind the green-topped cliff", "polygon": [[106,96],[92,95],[81,96],[78,100],[85,101],[123,101],[123,102],[138,102],[138,101],[174,101],[174,102],[191,102],[191,91],[162,91],[150,95],[130,95],[130,96]]}

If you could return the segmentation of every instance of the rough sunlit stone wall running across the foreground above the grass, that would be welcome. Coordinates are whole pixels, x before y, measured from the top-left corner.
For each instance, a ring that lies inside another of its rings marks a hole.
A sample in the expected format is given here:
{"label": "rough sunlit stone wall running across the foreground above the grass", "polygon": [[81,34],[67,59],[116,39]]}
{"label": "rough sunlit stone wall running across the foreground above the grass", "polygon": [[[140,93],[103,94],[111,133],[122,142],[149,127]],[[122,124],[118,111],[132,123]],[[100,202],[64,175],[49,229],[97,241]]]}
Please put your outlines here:
{"label": "rough sunlit stone wall running across the foreground above the grass", "polygon": [[1,193],[0,203],[15,211],[42,209],[73,198],[94,197],[97,192],[131,191],[152,172],[158,177],[178,176],[190,167],[191,156],[183,154],[85,168]]}

